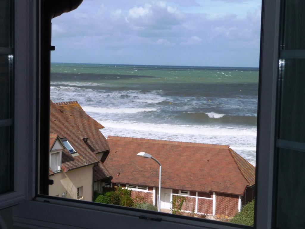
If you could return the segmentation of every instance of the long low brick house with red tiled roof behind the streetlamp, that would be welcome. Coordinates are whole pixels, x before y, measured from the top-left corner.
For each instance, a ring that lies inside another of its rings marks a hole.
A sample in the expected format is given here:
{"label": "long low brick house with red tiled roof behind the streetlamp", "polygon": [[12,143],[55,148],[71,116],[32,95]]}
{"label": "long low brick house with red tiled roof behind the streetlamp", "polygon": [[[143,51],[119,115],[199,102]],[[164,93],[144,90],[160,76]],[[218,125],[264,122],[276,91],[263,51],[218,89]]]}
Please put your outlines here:
{"label": "long low brick house with red tiled roof behind the streetlamp", "polygon": [[183,195],[185,214],[231,217],[253,199],[255,167],[227,145],[108,136],[110,151],[102,161],[114,185],[131,189],[156,205],[159,165],[137,157],[144,151],[162,164],[161,209]]}

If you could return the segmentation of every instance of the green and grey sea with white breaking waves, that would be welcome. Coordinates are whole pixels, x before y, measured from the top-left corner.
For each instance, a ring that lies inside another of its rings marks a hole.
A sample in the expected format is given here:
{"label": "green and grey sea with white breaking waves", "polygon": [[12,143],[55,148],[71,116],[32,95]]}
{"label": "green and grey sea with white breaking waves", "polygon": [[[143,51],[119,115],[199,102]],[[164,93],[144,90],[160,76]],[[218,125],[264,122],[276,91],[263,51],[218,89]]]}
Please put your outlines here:
{"label": "green and grey sea with white breaking waves", "polygon": [[255,165],[258,68],[51,64],[51,100],[108,135],[224,144]]}

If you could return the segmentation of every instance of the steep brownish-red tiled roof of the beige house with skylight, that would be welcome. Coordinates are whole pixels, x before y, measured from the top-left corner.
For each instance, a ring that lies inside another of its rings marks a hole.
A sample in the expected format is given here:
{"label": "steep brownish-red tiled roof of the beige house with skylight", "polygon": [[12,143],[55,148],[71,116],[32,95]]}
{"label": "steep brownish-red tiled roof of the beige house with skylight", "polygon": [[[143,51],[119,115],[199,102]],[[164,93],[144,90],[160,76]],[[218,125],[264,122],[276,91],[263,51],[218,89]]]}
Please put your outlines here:
{"label": "steep brownish-red tiled roof of the beige house with skylight", "polygon": [[[97,163],[100,160],[95,154],[109,151],[108,142],[99,131],[101,128],[103,126],[87,115],[77,101],[50,102],[50,133],[66,138],[79,154],[73,157],[67,149],[63,150],[63,171]],[[88,138],[87,142],[82,140],[84,137]]]}

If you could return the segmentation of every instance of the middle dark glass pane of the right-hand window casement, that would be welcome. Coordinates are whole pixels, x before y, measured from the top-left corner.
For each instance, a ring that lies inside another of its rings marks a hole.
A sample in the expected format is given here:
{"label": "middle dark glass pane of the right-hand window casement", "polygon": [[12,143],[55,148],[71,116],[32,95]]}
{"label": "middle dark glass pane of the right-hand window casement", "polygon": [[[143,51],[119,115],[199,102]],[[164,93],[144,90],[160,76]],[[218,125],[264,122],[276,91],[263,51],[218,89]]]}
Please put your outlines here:
{"label": "middle dark glass pane of the right-hand window casement", "polygon": [[305,60],[288,59],[282,73],[280,139],[305,142]]}

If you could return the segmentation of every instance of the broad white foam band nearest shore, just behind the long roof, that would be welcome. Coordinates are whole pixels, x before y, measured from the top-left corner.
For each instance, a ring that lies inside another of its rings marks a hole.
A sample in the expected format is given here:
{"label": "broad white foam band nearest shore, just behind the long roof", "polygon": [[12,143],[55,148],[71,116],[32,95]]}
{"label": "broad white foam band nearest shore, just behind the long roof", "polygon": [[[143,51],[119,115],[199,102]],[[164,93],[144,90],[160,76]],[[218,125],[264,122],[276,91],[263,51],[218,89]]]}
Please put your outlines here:
{"label": "broad white foam band nearest shore, just behind the long roof", "polygon": [[[96,119],[108,135],[230,145],[243,158],[255,165],[256,129],[209,125],[170,125],[144,122]],[[247,146],[245,146],[247,143]]]}

